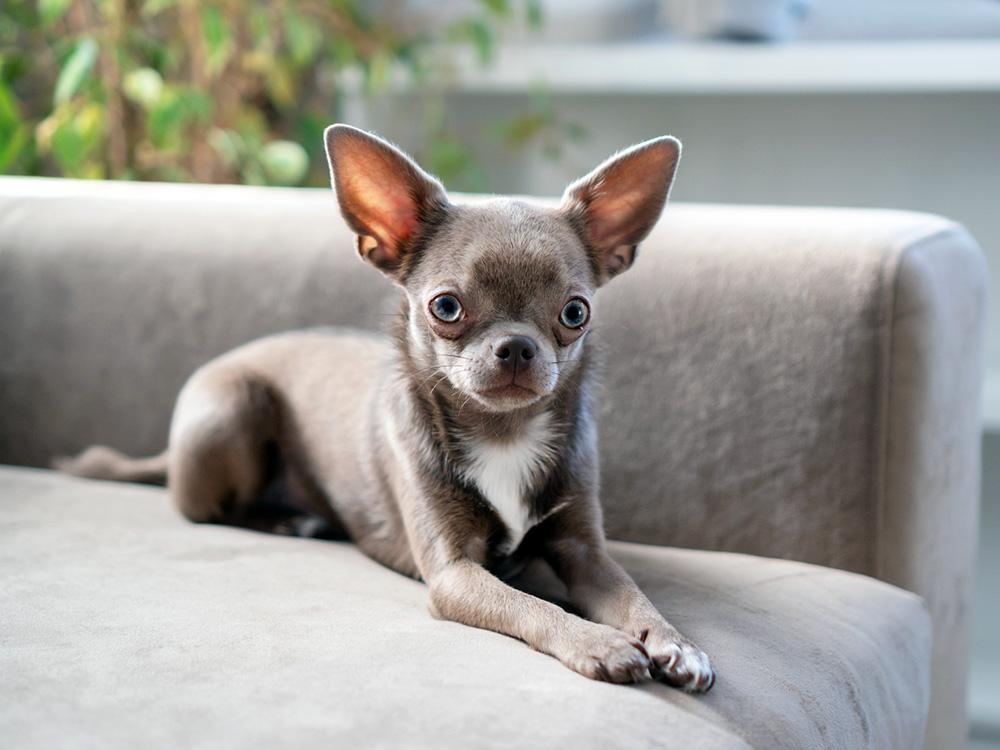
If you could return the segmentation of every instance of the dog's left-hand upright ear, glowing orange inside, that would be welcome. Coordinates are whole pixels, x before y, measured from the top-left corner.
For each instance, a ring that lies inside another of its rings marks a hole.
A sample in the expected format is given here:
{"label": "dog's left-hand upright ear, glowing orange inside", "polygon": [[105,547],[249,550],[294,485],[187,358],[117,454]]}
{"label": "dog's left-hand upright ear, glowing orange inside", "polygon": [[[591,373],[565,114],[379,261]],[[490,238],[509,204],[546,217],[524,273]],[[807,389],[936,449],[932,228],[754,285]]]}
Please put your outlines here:
{"label": "dog's left-hand upright ear, glowing orange inside", "polygon": [[358,253],[395,276],[427,223],[448,205],[444,188],[402,151],[363,130],[331,125],[324,137],[330,181],[358,235]]}

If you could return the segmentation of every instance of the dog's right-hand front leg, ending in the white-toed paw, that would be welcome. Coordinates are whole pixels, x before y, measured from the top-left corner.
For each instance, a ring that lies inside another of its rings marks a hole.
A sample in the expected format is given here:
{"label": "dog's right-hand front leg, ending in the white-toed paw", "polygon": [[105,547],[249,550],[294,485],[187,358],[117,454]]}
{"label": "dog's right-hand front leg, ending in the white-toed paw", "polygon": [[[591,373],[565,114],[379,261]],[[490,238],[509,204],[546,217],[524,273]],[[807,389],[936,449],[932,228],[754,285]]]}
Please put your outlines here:
{"label": "dog's right-hand front leg, ending in the white-toed paw", "polygon": [[643,642],[655,676],[689,692],[712,687],[715,672],[708,656],[667,622],[603,544],[554,540],[546,559],[566,584],[570,603],[585,617]]}

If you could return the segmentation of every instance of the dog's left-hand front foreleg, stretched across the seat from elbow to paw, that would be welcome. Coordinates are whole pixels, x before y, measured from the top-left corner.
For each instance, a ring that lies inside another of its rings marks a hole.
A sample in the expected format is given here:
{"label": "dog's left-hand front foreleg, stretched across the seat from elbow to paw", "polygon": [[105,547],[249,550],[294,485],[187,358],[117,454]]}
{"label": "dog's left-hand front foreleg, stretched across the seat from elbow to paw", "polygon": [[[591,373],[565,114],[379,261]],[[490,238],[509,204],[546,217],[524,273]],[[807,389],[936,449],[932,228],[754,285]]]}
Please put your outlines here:
{"label": "dog's left-hand front foreleg, stretched across the seat from elbow to paw", "polygon": [[438,617],[519,638],[591,679],[627,683],[649,676],[637,638],[518,591],[472,560],[442,565],[427,583]]}

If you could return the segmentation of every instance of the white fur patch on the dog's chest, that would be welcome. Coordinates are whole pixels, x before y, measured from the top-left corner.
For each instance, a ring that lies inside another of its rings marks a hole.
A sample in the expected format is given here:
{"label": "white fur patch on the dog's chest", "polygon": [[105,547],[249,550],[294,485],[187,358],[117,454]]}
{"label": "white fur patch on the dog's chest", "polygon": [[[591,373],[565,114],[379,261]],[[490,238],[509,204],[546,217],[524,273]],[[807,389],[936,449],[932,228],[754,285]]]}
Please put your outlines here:
{"label": "white fur patch on the dog's chest", "polygon": [[555,434],[551,421],[551,415],[543,412],[525,424],[524,431],[513,440],[475,439],[469,443],[465,475],[475,483],[507,527],[508,552],[513,551],[528,529],[540,520],[532,518],[525,494],[554,456]]}

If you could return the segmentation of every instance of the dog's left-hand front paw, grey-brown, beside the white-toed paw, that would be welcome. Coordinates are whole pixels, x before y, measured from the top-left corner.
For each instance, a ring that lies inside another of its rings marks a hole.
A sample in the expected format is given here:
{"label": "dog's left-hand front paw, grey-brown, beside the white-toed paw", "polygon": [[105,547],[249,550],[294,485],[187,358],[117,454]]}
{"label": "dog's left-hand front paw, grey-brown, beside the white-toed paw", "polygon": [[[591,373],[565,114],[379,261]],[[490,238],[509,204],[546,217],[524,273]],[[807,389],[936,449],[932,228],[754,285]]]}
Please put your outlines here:
{"label": "dog's left-hand front paw, grey-brown, beside the white-toed paw", "polygon": [[637,638],[606,625],[577,633],[560,655],[570,669],[602,682],[631,683],[649,678],[652,662]]}

